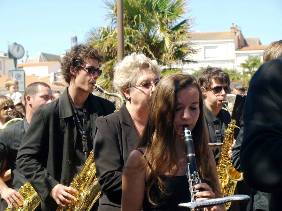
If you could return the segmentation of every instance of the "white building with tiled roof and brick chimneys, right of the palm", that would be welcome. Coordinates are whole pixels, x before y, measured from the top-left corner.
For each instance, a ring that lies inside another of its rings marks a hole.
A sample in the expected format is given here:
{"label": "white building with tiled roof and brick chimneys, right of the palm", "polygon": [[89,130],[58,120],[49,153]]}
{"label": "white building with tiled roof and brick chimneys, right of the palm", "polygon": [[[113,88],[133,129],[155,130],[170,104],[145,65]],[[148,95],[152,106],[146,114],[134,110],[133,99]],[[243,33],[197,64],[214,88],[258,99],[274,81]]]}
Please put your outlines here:
{"label": "white building with tiled roof and brick chimneys, right of the palm", "polygon": [[243,70],[241,63],[253,57],[262,61],[263,50],[259,38],[244,38],[241,30],[231,25],[230,31],[194,32],[191,34],[192,44],[198,52],[192,55],[197,63],[183,65],[183,72],[192,72],[200,67],[221,67]]}

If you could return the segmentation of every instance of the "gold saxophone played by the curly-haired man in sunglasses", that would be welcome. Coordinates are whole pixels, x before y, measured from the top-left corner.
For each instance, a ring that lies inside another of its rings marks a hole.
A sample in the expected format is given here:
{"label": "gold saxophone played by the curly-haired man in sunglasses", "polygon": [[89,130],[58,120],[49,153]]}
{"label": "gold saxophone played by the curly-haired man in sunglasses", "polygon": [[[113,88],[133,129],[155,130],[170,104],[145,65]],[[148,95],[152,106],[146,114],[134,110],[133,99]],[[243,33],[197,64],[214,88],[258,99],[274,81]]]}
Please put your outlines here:
{"label": "gold saxophone played by the curly-haired man in sunglasses", "polygon": [[[124,98],[120,93],[109,93],[99,84],[93,84],[93,87],[106,95],[117,97],[120,101],[117,110],[120,109],[124,102]],[[66,208],[58,207],[57,211],[89,211],[100,197],[101,188],[96,176],[93,150],[90,152],[80,173],[73,179],[70,187],[78,191],[78,194],[74,195],[76,201],[73,201],[73,204],[65,204]]]}

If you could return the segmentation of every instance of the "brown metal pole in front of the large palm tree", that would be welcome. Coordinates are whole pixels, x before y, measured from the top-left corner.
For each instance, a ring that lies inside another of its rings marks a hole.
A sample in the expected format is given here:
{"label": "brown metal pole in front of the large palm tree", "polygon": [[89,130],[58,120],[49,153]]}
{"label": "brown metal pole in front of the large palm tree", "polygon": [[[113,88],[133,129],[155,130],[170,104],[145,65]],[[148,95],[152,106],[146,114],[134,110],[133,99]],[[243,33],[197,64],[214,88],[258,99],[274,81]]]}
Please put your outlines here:
{"label": "brown metal pole in front of the large palm tree", "polygon": [[123,0],[117,0],[117,60],[124,57]]}

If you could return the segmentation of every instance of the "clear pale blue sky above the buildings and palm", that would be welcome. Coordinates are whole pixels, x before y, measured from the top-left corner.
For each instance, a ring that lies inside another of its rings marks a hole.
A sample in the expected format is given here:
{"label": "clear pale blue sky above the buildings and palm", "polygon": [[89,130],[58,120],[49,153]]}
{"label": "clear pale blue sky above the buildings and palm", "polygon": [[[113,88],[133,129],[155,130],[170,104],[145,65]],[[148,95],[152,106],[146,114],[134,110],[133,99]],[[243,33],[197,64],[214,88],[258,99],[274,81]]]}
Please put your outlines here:
{"label": "clear pale blue sky above the buildings and palm", "polygon": [[[281,8],[281,0],[190,0],[185,17],[195,19],[192,30],[227,31],[234,23],[245,38],[259,37],[268,45],[282,39]],[[70,48],[73,33],[84,42],[92,27],[107,25],[109,12],[101,0],[0,0],[0,51],[17,42],[29,56],[60,55]]]}

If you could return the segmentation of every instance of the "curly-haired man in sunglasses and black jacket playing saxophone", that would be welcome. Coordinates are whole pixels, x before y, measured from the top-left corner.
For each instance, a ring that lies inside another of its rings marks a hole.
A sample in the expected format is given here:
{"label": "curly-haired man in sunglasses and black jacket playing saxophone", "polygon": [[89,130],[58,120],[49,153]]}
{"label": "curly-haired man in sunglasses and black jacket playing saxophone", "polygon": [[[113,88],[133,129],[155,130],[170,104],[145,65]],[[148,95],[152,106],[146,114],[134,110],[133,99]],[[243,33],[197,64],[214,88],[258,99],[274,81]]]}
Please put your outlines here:
{"label": "curly-haired man in sunglasses and black jacket playing saxophone", "polygon": [[95,120],[115,110],[112,102],[92,94],[103,59],[103,53],[90,45],[72,47],[61,63],[69,86],[36,110],[23,139],[17,163],[41,197],[42,210],[66,207],[75,200],[78,192],[68,186],[93,149]]}

